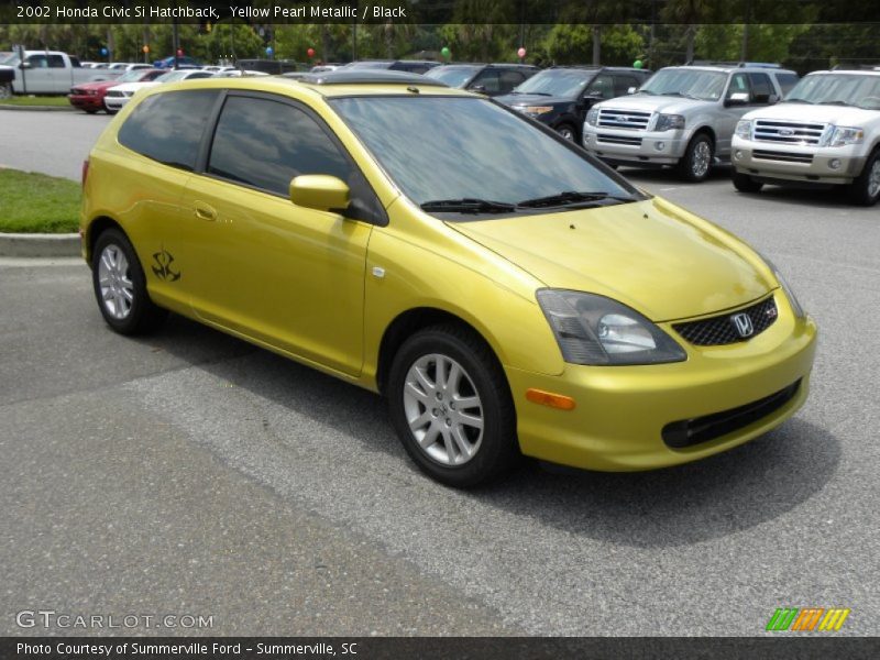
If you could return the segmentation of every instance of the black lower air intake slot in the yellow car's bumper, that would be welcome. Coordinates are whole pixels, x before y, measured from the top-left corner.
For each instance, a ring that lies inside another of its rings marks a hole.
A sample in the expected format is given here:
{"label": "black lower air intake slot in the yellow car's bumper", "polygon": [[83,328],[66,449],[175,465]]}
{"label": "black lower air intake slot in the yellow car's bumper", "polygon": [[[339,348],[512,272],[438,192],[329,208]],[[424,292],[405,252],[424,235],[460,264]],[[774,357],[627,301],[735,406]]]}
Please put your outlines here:
{"label": "black lower air intake slot in the yellow car's bumper", "polygon": [[672,449],[684,449],[733,433],[779,410],[794,398],[800,388],[801,381],[799,380],[776,394],[745,406],[704,417],[673,421],[663,427],[663,442]]}

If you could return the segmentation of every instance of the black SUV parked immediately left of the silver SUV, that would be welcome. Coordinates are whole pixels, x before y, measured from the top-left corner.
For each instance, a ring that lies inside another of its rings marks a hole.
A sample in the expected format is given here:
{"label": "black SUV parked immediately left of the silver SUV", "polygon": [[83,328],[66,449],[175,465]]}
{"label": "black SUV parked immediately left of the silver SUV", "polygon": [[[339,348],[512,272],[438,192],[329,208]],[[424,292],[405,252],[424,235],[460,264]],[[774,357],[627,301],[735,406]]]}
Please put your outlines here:
{"label": "black SUV parked immediately left of the silver SUV", "polygon": [[554,66],[532,76],[497,100],[581,143],[587,110],[598,101],[624,96],[651,72],[617,66]]}

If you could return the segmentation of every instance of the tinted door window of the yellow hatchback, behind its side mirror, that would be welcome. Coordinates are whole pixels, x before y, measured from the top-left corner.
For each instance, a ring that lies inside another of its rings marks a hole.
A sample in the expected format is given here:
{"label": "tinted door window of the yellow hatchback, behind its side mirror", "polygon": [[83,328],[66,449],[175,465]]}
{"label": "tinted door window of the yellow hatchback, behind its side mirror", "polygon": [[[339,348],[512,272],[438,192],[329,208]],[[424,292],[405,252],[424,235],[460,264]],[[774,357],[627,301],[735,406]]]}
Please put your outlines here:
{"label": "tinted door window of the yellow hatchback, behind its side mirror", "polygon": [[208,170],[288,195],[290,179],[329,174],[350,183],[352,167],[318,122],[266,99],[230,97],[220,113]]}

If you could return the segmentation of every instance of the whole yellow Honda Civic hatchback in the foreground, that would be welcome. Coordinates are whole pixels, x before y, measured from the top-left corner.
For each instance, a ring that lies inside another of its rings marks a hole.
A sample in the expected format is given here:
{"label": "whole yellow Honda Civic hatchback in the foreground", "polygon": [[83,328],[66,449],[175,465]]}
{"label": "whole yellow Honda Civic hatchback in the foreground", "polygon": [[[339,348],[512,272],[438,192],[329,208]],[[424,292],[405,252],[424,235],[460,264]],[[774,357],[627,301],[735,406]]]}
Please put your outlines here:
{"label": "whole yellow Honda Civic hatchback in the foreground", "polygon": [[170,310],[381,393],[450,485],[521,454],[694,461],[807,396],[816,327],[771,263],[421,76],[146,90],[84,182],[82,255],[113,330]]}

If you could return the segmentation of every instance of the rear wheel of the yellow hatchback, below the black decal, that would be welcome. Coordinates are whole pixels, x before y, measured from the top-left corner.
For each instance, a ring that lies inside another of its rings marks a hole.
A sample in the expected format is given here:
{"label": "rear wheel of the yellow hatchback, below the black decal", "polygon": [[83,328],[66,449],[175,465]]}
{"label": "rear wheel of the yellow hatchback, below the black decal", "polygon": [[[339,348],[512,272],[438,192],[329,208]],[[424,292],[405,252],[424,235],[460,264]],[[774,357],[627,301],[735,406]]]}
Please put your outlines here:
{"label": "rear wheel of the yellow hatchback, below the black decal", "polygon": [[103,231],[95,242],[91,282],[101,315],[120,334],[152,332],[168,316],[150,299],[138,254],[118,229]]}

